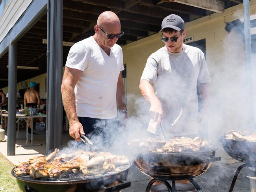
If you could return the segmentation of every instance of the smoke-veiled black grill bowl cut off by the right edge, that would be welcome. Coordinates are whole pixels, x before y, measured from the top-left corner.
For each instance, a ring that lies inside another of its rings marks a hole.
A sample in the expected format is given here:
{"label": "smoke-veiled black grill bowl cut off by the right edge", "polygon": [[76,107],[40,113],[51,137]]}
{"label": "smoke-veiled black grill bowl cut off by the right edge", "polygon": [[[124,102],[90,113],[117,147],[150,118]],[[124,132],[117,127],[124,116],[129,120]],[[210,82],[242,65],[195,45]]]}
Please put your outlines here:
{"label": "smoke-veiled black grill bowl cut off by the right edge", "polygon": [[256,164],[256,142],[219,138],[224,150],[237,161]]}

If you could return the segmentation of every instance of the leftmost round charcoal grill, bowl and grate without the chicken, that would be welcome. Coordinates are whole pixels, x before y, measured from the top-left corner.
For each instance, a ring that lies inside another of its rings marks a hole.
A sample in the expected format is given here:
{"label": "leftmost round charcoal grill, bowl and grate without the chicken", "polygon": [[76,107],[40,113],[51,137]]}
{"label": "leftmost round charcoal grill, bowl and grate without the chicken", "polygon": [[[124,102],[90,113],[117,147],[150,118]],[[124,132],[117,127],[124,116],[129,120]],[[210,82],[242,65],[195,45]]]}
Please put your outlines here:
{"label": "leftmost round charcoal grill, bowl and grate without the chicken", "polygon": [[131,164],[118,166],[120,172],[108,171],[99,175],[72,173],[64,177],[33,179],[30,175],[15,175],[18,186],[23,192],[118,192],[130,187],[126,182]]}

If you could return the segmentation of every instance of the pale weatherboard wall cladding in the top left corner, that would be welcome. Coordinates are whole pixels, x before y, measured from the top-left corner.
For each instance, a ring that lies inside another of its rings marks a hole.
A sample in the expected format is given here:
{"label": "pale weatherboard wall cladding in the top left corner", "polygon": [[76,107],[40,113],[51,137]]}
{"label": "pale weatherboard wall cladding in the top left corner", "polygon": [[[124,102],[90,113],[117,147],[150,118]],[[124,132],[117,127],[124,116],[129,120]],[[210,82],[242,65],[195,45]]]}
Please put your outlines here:
{"label": "pale weatherboard wall cladding in the top left corner", "polygon": [[33,0],[9,0],[3,14],[0,15],[0,42],[32,1]]}

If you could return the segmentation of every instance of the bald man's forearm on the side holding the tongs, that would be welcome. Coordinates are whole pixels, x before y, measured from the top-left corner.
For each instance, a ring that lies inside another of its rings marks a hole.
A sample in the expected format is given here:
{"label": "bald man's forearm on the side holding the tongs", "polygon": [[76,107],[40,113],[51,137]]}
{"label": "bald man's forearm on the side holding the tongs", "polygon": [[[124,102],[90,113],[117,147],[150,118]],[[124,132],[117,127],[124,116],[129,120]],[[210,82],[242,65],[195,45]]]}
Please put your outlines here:
{"label": "bald man's forearm on the side holding the tongs", "polygon": [[75,93],[74,89],[71,86],[61,86],[61,94],[62,94],[62,100],[64,109],[66,111],[67,117],[69,119],[69,123],[72,124],[72,122],[77,122],[77,114],[76,114],[76,99],[75,99]]}

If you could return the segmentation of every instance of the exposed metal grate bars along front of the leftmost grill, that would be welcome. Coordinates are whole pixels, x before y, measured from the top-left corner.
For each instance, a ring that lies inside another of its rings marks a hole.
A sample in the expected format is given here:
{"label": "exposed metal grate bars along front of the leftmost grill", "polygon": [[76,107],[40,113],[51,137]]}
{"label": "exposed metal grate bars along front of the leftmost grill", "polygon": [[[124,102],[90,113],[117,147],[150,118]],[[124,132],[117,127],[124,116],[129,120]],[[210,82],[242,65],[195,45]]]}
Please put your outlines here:
{"label": "exposed metal grate bars along front of the leftmost grill", "polygon": [[[116,167],[116,169],[119,169],[120,172],[125,171],[128,168],[130,168],[130,163]],[[79,174],[79,173],[70,173],[69,175],[64,176],[64,177],[40,178],[40,179],[37,179],[37,181],[80,181],[80,180],[89,180],[89,179],[98,179],[98,178],[102,178],[102,177],[108,177],[108,176],[111,176],[114,174],[118,174],[120,172],[111,170],[111,171],[107,171],[107,172],[104,172],[102,174],[97,174],[97,175],[83,175],[83,174]],[[26,180],[35,181],[33,179],[33,177],[31,177],[30,175],[16,175],[16,177],[21,178],[21,179],[23,178]]]}

